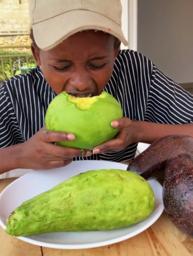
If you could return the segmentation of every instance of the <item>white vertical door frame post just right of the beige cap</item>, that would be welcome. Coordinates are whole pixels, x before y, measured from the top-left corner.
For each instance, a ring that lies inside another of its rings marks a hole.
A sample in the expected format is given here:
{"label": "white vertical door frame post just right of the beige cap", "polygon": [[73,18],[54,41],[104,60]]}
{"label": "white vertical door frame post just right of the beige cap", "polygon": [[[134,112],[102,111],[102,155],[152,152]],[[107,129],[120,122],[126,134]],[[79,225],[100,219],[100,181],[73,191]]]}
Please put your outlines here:
{"label": "white vertical door frame post just right of the beige cap", "polygon": [[137,50],[137,0],[121,0],[122,30],[129,42],[128,47],[121,44],[121,49]]}

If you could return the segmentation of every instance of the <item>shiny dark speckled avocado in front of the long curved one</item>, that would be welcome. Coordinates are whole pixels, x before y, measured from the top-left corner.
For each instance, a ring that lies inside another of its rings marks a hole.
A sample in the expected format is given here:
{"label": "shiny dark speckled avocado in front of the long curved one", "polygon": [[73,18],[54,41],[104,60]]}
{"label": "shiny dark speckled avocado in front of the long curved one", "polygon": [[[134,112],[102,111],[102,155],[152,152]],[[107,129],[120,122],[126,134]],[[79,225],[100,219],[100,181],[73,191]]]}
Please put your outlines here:
{"label": "shiny dark speckled avocado in front of the long curved one", "polygon": [[193,156],[175,156],[167,161],[165,170],[165,211],[179,230],[193,237]]}

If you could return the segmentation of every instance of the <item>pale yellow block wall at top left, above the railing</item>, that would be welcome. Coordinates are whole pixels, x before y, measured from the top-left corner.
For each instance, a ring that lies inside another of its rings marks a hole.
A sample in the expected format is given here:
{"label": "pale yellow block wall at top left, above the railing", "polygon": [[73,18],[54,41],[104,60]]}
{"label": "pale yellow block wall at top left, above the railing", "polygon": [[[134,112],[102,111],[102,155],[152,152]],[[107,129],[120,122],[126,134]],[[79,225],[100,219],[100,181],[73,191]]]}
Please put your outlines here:
{"label": "pale yellow block wall at top left, above the railing", "polygon": [[0,0],[0,33],[29,31],[29,0]]}

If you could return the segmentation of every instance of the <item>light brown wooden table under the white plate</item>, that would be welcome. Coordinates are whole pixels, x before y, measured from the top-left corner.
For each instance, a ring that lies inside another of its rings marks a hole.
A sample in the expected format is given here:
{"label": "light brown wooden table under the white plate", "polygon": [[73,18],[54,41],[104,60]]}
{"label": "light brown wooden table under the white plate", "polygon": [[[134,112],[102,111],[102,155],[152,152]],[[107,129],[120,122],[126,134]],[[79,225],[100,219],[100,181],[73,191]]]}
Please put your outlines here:
{"label": "light brown wooden table under the white plate", "polygon": [[[16,178],[0,180],[0,192]],[[0,256],[189,256],[193,239],[178,231],[163,213],[147,230],[126,241],[86,250],[57,250],[35,246],[0,227]]]}

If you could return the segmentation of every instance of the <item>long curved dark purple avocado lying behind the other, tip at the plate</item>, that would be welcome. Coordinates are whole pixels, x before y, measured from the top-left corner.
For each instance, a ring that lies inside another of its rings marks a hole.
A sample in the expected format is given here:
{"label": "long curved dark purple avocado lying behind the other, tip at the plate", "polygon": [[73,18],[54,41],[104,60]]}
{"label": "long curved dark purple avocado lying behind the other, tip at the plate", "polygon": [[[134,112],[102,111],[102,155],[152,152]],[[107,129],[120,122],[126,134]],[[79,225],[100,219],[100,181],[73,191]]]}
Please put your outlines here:
{"label": "long curved dark purple avocado lying behind the other, tip at the plate", "polygon": [[180,154],[193,155],[193,138],[188,135],[168,135],[152,143],[128,165],[127,170],[146,180],[156,172],[165,171],[166,162]]}

